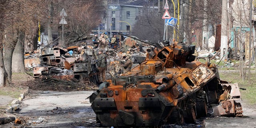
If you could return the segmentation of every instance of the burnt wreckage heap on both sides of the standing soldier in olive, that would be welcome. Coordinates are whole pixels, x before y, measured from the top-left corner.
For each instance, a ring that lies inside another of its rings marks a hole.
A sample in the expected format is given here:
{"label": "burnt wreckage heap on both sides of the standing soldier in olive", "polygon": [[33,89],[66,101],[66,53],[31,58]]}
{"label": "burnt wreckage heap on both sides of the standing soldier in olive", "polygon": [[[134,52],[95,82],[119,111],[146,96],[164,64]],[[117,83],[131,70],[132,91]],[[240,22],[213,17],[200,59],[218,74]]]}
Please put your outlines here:
{"label": "burnt wreckage heap on both sides of the standing soldier in olive", "polygon": [[[80,84],[85,84],[91,87],[98,85],[100,80],[97,69],[98,48],[93,48],[93,46],[90,46],[92,45],[90,43],[80,42],[76,44],[78,44],[78,46],[69,46],[67,48],[59,46],[40,46],[38,50],[25,54],[25,68],[33,69],[33,76],[36,78],[34,84],[30,85],[33,85],[34,88],[38,88],[43,86],[43,83],[46,85],[45,83],[47,82],[51,82],[49,85],[62,84],[65,87],[58,88],[58,90],[62,91],[70,89],[74,90],[75,88],[70,87],[71,85],[76,86],[77,88]],[[143,49],[148,47],[149,46],[145,46]],[[128,49],[125,49],[124,46],[122,46],[122,48],[118,48],[118,50],[104,48],[103,51],[103,53],[108,56],[106,58],[107,79],[126,72],[124,68],[120,67],[121,64],[124,63],[122,54],[131,54],[132,61],[135,65],[146,58],[145,52],[138,51],[134,46],[129,46]],[[118,69],[121,69],[120,72],[115,71],[118,66]],[[70,88],[66,88],[66,86]],[[33,87],[31,86],[31,88]],[[84,87],[79,88],[81,89]],[[44,87],[42,89],[52,90],[54,89],[54,86]]]}

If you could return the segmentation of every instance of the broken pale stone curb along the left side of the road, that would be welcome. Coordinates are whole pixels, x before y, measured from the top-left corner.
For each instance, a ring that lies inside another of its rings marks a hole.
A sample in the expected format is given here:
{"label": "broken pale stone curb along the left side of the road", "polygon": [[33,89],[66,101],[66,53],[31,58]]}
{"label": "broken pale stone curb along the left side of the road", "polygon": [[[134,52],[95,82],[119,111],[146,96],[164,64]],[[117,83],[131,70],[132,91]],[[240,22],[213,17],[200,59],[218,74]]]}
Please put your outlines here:
{"label": "broken pale stone curb along the left side of the road", "polygon": [[[20,94],[20,97],[18,99],[15,99],[12,101],[11,106],[7,106],[4,110],[6,113],[12,113],[12,111],[17,110],[20,108],[20,102],[25,98],[25,95],[28,94],[29,88],[26,88],[26,91],[23,94]],[[12,121],[14,121],[16,116],[6,116],[6,117],[0,117],[0,124],[8,124]]]}

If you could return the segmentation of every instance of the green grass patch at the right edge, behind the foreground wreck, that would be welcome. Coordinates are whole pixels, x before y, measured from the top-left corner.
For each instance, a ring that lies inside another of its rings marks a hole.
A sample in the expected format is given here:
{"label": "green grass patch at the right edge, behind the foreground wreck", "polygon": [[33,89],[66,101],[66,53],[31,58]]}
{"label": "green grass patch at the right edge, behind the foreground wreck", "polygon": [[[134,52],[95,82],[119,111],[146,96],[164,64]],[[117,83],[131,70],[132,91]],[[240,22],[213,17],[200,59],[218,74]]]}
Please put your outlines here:
{"label": "green grass patch at the right edge, behind the foreground wreck", "polygon": [[228,81],[230,83],[238,83],[239,88],[245,88],[246,90],[241,90],[242,99],[249,101],[251,104],[256,104],[256,73],[251,73],[250,83],[248,81],[248,74],[243,81],[239,72],[219,72],[220,79]]}

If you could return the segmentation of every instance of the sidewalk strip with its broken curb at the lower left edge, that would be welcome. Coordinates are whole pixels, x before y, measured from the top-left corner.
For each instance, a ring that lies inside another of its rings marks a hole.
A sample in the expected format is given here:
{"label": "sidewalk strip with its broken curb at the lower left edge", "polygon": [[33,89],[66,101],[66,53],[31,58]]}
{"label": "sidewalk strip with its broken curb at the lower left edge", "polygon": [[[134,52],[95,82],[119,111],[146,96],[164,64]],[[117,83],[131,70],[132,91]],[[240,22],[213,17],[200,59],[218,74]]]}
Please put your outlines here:
{"label": "sidewalk strip with its broken curb at the lower left edge", "polygon": [[0,88],[0,125],[16,119],[13,111],[20,107],[20,102],[28,94],[28,87],[1,87]]}

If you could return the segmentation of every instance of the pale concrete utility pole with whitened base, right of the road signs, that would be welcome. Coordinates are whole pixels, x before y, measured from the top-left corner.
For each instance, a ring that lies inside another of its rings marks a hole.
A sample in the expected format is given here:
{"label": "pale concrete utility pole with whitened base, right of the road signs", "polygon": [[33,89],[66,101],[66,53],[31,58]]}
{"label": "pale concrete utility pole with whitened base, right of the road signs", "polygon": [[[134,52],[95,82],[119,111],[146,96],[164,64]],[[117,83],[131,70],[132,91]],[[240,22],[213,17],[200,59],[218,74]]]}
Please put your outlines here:
{"label": "pale concrete utility pole with whitened base, right of the road signs", "polygon": [[228,0],[222,0],[220,58],[228,58]]}

